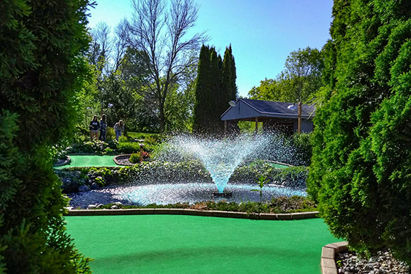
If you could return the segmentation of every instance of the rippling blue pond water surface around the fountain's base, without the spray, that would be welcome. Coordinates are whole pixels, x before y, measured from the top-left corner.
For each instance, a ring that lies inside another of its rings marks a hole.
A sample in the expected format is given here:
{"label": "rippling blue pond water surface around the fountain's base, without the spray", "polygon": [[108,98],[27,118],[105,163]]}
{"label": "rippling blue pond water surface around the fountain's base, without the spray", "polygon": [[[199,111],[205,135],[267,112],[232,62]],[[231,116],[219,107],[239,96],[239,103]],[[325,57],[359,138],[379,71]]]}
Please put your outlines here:
{"label": "rippling blue pond water surface around the fountain's base, without the spray", "polygon": [[[230,198],[214,198],[216,191],[212,183],[182,183],[182,184],[145,184],[141,186],[116,186],[101,188],[88,192],[79,192],[71,195],[71,206],[86,208],[89,204],[114,203],[120,201],[124,205],[147,206],[150,203],[166,205],[169,203],[196,203],[199,201],[260,201],[260,193],[250,191],[256,184],[229,184],[225,192],[232,192]],[[293,195],[306,196],[306,191],[276,185],[266,185],[262,189],[263,201],[270,201],[273,197]]]}

